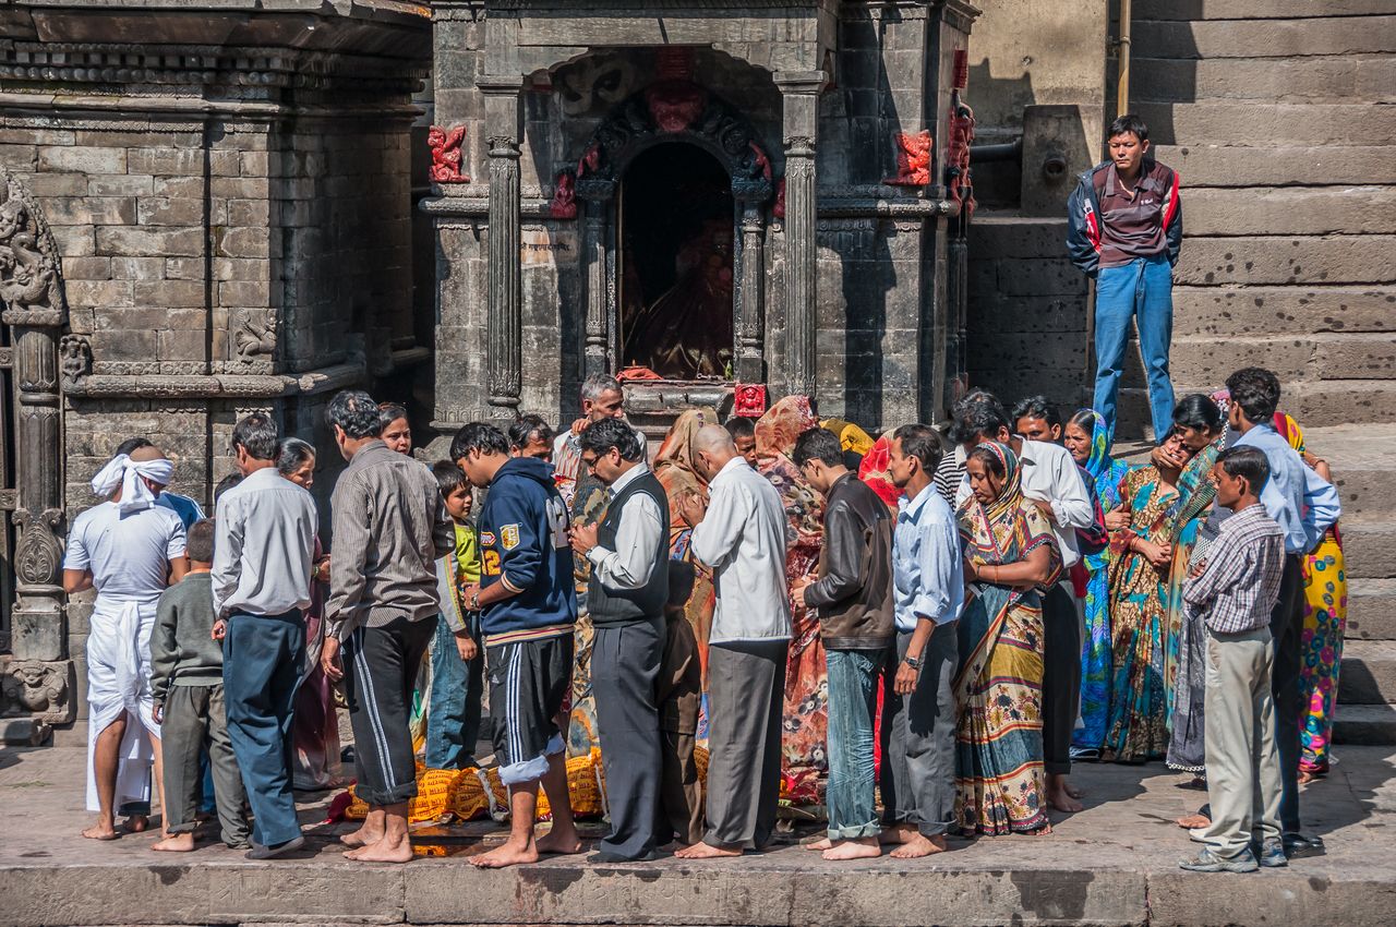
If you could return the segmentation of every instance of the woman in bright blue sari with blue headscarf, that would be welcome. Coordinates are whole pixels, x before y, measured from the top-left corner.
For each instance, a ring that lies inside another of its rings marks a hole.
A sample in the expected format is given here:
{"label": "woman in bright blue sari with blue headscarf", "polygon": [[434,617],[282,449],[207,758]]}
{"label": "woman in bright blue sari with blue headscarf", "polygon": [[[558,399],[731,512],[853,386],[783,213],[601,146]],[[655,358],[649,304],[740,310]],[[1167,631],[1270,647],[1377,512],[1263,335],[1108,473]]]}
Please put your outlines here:
{"label": "woman in bright blue sari with blue headscarf", "polygon": [[[1062,444],[1093,480],[1096,503],[1108,515],[1120,507],[1120,480],[1129,465],[1110,457],[1110,427],[1094,409],[1079,409],[1062,430]],[[1085,554],[1078,564],[1085,574],[1086,631],[1081,637],[1081,720],[1072,734],[1081,758],[1100,755],[1110,712],[1114,662],[1110,642],[1110,549]],[[1076,575],[1075,572],[1072,574]]]}

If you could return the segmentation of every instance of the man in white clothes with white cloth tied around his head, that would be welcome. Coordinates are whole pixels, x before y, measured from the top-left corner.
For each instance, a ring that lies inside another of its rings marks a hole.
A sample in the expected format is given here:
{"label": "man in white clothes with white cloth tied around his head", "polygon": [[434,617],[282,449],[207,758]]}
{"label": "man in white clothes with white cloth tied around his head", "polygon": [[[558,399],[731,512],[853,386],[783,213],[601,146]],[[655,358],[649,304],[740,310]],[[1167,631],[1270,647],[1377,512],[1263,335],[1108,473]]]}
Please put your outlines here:
{"label": "man in white clothes with white cloth tied around his head", "polygon": [[[112,840],[116,808],[149,803],[151,762],[163,793],[159,725],[151,715],[151,628],[161,592],[184,575],[184,524],[155,504],[174,466],[156,447],[119,454],[92,477],[107,501],[73,521],[63,561],[70,596],[96,589],[87,642],[88,811],[82,836]],[[147,737],[141,737],[141,727]],[[161,796],[163,804],[163,794]],[[144,829],[131,815],[133,829]]]}

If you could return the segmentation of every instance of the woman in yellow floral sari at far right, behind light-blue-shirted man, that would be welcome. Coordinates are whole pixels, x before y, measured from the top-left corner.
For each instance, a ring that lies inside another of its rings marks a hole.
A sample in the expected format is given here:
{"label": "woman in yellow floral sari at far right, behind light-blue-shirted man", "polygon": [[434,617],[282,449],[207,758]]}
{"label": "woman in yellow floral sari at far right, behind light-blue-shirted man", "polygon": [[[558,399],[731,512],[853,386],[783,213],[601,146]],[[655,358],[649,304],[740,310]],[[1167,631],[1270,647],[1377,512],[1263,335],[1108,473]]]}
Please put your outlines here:
{"label": "woman in yellow floral sari at far right, behind light-blue-shirted man", "polygon": [[[1304,448],[1304,431],[1294,419],[1276,412],[1275,430],[1319,476],[1333,482],[1328,464]],[[1300,782],[1312,782],[1328,773],[1337,701],[1337,667],[1343,659],[1346,630],[1347,574],[1343,539],[1337,525],[1333,525],[1318,549],[1304,558],[1304,663],[1300,667],[1300,684],[1304,687],[1307,709],[1300,729]]]}

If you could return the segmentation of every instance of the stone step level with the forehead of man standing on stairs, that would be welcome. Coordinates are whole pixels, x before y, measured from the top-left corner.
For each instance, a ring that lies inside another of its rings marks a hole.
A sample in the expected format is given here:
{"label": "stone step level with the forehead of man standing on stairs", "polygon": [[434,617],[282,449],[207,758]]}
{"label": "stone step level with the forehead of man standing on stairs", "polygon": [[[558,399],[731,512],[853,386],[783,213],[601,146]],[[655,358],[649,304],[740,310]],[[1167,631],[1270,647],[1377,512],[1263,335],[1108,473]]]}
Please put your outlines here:
{"label": "stone step level with the forehead of man standing on stairs", "polygon": [[1149,138],[1163,145],[1392,145],[1396,106],[1358,103],[1139,103]]}

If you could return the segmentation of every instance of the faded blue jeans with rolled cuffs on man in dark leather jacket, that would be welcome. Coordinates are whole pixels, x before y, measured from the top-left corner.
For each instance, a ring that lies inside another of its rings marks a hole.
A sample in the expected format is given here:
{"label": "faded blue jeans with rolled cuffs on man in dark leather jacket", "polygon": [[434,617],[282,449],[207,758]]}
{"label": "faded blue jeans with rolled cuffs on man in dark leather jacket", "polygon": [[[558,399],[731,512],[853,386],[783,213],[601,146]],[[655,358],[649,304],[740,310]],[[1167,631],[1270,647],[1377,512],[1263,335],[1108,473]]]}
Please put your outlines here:
{"label": "faded blue jeans with rolled cuffs on man in dark leather jacket", "polygon": [[829,839],[882,832],[874,799],[872,723],[886,648],[825,651],[829,676]]}

